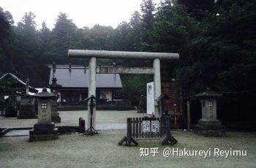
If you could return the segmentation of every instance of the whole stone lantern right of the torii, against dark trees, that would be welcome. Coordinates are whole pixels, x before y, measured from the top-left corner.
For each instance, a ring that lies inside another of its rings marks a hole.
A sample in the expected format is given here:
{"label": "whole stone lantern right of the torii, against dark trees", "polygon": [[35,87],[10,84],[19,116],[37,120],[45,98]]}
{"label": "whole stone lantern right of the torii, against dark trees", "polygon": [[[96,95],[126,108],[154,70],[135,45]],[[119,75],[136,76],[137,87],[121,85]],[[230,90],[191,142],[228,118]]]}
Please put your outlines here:
{"label": "whole stone lantern right of the torii, against dark trees", "polygon": [[195,126],[195,133],[206,136],[225,136],[225,127],[217,119],[217,98],[222,94],[211,91],[207,88],[206,92],[196,95],[200,98],[202,107],[202,118]]}

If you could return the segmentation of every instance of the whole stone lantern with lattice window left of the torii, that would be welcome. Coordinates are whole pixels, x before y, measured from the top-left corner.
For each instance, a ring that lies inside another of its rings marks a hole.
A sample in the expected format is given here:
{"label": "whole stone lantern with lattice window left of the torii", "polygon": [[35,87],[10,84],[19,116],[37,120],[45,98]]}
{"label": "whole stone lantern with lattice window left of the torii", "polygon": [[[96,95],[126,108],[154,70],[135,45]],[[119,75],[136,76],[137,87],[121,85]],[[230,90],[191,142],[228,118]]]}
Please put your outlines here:
{"label": "whole stone lantern with lattice window left of the torii", "polygon": [[34,124],[34,130],[29,131],[29,141],[58,139],[58,132],[51,122],[51,99],[56,96],[43,88],[42,92],[35,94],[34,97],[38,100],[38,122]]}

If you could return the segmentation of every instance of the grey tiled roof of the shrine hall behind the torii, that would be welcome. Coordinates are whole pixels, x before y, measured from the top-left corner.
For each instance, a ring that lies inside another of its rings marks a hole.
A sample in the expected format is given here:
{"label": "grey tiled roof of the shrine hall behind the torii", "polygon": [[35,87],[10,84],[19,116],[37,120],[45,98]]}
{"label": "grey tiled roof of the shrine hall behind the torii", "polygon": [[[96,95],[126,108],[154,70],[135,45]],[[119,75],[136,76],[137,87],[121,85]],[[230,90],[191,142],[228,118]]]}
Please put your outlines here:
{"label": "grey tiled roof of the shrine hall behind the torii", "polygon": [[[89,70],[86,73],[84,69],[69,69],[56,67],[56,79],[59,85],[64,88],[88,88],[89,85]],[[52,83],[53,69],[50,67],[49,84]],[[96,75],[97,88],[122,88],[121,78],[119,74],[97,74]]]}

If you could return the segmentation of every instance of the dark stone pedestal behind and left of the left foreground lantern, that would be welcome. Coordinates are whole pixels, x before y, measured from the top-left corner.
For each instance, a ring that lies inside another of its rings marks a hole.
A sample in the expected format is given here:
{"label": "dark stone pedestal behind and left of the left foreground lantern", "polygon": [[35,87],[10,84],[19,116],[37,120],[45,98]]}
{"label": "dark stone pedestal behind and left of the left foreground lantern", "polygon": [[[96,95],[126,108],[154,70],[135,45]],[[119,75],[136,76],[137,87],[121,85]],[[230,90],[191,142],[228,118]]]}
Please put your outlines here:
{"label": "dark stone pedestal behind and left of the left foreground lantern", "polygon": [[30,95],[22,96],[20,101],[20,110],[18,119],[37,118],[37,112],[34,105],[34,98]]}

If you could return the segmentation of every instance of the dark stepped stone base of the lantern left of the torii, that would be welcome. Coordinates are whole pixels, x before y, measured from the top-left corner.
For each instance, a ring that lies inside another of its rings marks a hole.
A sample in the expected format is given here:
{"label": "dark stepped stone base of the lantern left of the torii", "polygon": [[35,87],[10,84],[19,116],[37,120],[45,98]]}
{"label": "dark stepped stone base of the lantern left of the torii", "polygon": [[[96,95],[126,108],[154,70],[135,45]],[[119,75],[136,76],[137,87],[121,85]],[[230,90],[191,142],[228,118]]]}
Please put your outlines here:
{"label": "dark stepped stone base of the lantern left of the torii", "polygon": [[34,130],[29,131],[29,141],[56,140],[59,138],[57,130],[54,130],[53,123],[36,123]]}

